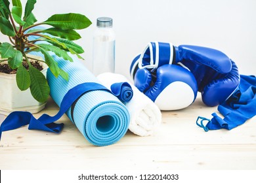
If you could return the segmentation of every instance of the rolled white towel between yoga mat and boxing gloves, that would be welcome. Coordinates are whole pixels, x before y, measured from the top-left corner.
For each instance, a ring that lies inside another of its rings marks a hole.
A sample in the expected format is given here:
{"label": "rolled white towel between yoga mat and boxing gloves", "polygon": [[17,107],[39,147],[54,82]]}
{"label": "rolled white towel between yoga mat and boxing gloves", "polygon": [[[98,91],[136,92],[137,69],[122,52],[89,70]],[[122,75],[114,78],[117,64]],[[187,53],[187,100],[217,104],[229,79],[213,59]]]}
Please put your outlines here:
{"label": "rolled white towel between yoga mat and boxing gloves", "polygon": [[157,105],[123,75],[102,73],[97,78],[108,89],[116,82],[128,82],[131,85],[133,98],[128,103],[125,103],[131,118],[129,130],[139,136],[152,135],[161,124],[161,111]]}

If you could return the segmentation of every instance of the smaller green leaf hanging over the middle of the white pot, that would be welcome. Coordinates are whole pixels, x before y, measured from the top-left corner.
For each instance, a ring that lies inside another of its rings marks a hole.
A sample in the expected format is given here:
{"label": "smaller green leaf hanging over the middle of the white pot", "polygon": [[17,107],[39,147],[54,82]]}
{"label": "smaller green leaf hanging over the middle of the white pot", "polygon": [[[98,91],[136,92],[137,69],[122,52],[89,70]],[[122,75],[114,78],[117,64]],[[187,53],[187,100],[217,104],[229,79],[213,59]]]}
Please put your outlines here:
{"label": "smaller green leaf hanging over the middle of the white pot", "polygon": [[31,84],[30,74],[28,73],[28,70],[23,65],[20,65],[20,67],[18,67],[17,69],[16,82],[17,82],[18,88],[21,91],[24,91],[30,88],[30,84]]}

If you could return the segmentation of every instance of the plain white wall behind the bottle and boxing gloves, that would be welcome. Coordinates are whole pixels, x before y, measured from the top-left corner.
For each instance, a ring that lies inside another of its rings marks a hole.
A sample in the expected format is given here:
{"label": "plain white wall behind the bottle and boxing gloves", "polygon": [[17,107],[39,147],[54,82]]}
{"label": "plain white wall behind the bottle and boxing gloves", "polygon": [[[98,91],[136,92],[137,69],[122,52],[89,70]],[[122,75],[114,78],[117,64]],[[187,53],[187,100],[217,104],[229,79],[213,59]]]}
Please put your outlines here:
{"label": "plain white wall behind the bottle and boxing gloves", "polygon": [[161,41],[221,50],[240,74],[256,75],[255,0],[37,0],[33,12],[39,22],[68,12],[85,14],[93,22],[78,31],[82,39],[77,41],[90,70],[96,18],[110,16],[116,31],[116,73],[129,77],[132,59],[147,42]]}

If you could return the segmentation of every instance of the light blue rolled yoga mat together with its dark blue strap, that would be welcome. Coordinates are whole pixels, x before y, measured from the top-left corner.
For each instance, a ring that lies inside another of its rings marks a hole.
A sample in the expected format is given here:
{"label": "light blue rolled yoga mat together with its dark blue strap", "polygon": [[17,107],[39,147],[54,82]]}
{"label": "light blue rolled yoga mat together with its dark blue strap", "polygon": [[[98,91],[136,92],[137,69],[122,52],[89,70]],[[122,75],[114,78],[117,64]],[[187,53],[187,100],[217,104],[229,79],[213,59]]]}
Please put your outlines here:
{"label": "light blue rolled yoga mat together with its dark blue strap", "polygon": [[[40,52],[30,54],[44,58]],[[54,122],[66,111],[68,118],[92,144],[106,146],[119,141],[127,132],[130,122],[129,111],[125,105],[99,84],[96,77],[76,58],[73,59],[74,62],[70,62],[53,53],[51,56],[58,62],[60,69],[69,75],[67,82],[61,76],[56,78],[51,71],[47,71],[50,95],[60,107],[60,111],[55,116],[43,114],[38,119],[35,119],[30,112],[12,112],[0,125],[0,140],[2,131],[27,124],[30,124],[29,129],[59,133],[63,124],[54,124]],[[119,90],[116,91],[118,93]]]}

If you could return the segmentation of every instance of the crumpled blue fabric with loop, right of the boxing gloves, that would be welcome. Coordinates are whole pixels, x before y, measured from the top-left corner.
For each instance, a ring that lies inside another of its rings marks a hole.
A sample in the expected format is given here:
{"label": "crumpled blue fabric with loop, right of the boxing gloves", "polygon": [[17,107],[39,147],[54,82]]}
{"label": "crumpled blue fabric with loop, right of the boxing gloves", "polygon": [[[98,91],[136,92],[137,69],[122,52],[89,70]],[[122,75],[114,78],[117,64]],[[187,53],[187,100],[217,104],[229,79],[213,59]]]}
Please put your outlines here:
{"label": "crumpled blue fabric with loop, right of the boxing gloves", "polygon": [[[211,120],[199,116],[196,124],[205,131],[222,128],[230,130],[256,115],[256,77],[240,75],[240,78],[238,89],[218,107],[224,118],[214,112]],[[206,125],[203,125],[204,121],[207,121]]]}

